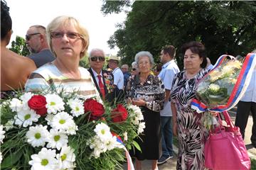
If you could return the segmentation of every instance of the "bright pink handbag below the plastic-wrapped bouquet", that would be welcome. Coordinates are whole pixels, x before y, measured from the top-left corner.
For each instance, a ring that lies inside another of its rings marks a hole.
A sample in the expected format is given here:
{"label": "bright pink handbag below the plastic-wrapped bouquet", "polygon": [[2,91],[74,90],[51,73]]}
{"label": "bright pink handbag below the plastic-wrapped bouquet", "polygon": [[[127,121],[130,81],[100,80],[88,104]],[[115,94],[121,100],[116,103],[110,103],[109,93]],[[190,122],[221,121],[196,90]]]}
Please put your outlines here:
{"label": "bright pink handbag below the plastic-wrapped bouquet", "polygon": [[224,127],[220,115],[220,125],[210,130],[204,148],[205,165],[208,169],[250,169],[250,157],[242,140],[240,129],[235,127],[227,111],[223,112],[227,127]]}

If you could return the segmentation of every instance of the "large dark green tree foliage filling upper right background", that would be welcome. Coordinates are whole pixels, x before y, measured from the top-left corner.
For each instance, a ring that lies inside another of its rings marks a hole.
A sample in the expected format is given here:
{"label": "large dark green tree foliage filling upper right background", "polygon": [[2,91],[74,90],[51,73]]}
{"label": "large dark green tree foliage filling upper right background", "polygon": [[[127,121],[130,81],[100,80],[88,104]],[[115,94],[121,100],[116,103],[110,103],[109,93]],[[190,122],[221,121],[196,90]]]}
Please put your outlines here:
{"label": "large dark green tree foliage filling upper right background", "polygon": [[245,55],[256,47],[255,16],[255,1],[135,1],[108,43],[119,47],[125,63],[142,50],[151,52],[158,62],[161,47],[174,45],[183,68],[181,46],[198,40],[214,63],[220,55]]}

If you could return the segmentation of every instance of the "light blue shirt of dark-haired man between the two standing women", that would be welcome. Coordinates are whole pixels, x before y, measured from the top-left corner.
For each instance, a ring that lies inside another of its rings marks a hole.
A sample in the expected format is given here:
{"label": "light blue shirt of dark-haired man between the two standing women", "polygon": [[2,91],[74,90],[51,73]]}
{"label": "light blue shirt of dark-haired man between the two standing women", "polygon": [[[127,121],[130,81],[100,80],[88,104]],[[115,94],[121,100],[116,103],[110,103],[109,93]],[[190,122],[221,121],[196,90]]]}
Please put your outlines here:
{"label": "light blue shirt of dark-haired man between the two standing women", "polygon": [[[178,69],[178,66],[174,62],[174,60],[166,62],[166,64],[163,65],[158,77],[160,77],[161,80],[164,82],[165,89],[171,90],[172,81],[174,79],[175,74],[178,72],[180,72],[180,70]],[[172,116],[170,101],[167,101],[167,102],[164,101],[164,109],[162,111],[160,111],[160,115],[161,116]]]}

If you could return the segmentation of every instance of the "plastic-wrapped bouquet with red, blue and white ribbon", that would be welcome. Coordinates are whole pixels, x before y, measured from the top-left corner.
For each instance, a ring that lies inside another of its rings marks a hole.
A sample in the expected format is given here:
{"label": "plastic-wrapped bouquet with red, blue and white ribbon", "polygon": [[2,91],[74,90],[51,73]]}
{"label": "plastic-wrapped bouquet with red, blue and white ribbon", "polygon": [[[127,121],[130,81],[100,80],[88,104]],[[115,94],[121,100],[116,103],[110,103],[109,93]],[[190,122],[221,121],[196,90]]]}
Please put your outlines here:
{"label": "plastic-wrapped bouquet with red, blue and white ribbon", "polygon": [[255,69],[255,53],[245,59],[222,55],[213,69],[198,83],[191,107],[198,113],[205,111],[228,111],[245,93]]}

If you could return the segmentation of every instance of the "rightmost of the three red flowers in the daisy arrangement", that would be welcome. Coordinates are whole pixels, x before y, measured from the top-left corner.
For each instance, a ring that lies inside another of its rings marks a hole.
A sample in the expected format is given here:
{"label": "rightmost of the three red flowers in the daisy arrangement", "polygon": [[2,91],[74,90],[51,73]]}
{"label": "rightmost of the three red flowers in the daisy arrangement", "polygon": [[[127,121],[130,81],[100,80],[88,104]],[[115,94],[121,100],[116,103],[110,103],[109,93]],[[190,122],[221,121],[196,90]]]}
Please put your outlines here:
{"label": "rightmost of the three red flowers in the daisy arrangement", "polygon": [[114,123],[119,123],[127,120],[128,113],[126,108],[122,104],[118,104],[112,112],[111,118]]}

